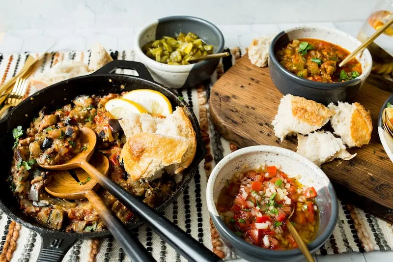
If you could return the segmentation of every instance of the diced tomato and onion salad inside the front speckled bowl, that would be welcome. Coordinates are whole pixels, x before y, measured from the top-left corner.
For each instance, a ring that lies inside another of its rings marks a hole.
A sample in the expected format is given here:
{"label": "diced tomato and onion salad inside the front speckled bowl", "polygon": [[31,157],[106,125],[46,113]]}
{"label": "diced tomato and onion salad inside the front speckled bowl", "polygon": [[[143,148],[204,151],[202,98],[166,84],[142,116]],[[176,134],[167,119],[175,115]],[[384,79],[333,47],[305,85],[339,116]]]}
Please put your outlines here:
{"label": "diced tomato and onion salad inside the front speckled bowl", "polygon": [[297,248],[285,220],[309,243],[318,225],[314,187],[305,187],[276,166],[237,172],[221,191],[217,210],[225,224],[250,244],[273,250]]}

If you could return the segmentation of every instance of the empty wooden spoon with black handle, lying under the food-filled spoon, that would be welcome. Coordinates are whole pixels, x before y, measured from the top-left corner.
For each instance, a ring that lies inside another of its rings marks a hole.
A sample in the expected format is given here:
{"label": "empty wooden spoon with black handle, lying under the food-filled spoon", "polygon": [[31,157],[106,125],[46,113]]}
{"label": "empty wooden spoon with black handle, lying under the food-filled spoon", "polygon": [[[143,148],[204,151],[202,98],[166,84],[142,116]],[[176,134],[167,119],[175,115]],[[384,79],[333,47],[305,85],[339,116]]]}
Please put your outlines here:
{"label": "empty wooden spoon with black handle, lying under the food-filled spoon", "polygon": [[[104,155],[95,154],[91,163],[102,174],[108,173],[109,161]],[[77,177],[73,177],[69,171],[57,171],[53,174],[51,183],[45,187],[46,192],[60,199],[87,198],[132,261],[155,262],[138,238],[128,232],[124,224],[112,214],[108,206],[95,193],[94,190],[99,188],[97,181],[92,179],[83,169],[73,170],[73,173]],[[75,178],[78,178],[79,181]]]}

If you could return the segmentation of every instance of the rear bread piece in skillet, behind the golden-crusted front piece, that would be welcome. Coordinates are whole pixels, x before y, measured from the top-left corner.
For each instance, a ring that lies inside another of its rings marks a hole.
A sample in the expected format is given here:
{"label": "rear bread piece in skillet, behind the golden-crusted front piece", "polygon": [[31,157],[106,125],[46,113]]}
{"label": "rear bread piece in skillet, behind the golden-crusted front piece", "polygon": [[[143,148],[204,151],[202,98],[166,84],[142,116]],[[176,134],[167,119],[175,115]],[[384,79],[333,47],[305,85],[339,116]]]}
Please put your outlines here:
{"label": "rear bread piece in skillet, behind the golden-crusted front piece", "polygon": [[180,136],[187,139],[187,151],[181,163],[174,165],[175,174],[182,172],[191,165],[197,151],[197,135],[195,134],[190,118],[186,115],[182,107],[176,107],[176,110],[172,114],[158,123],[156,133],[174,137]]}

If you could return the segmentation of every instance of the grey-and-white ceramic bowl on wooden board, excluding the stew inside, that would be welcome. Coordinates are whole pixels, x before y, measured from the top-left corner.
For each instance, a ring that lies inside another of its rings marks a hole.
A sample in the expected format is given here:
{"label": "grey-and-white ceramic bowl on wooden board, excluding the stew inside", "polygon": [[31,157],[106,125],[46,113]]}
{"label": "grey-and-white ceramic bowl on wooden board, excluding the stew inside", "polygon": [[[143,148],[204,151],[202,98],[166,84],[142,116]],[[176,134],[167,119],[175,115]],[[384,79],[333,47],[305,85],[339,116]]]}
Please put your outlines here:
{"label": "grey-and-white ceramic bowl on wooden board, excluding the stew inside", "polygon": [[329,104],[330,102],[350,100],[357,94],[371,72],[372,58],[365,49],[356,58],[362,64],[362,74],[356,79],[343,83],[319,83],[298,77],[286,70],[276,58],[282,45],[299,38],[324,40],[348,50],[354,51],[361,42],[340,30],[324,27],[298,27],[281,31],[276,35],[269,48],[269,71],[274,85],[282,94],[292,94]]}

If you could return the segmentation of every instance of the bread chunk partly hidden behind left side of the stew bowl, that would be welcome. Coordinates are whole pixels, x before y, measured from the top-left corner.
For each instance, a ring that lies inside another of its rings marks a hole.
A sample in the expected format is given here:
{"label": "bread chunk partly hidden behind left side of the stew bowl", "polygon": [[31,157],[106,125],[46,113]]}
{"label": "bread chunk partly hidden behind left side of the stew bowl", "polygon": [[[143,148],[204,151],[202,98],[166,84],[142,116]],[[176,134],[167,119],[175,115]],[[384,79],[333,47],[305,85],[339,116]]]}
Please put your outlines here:
{"label": "bread chunk partly hidden behind left side of the stew bowl", "polygon": [[253,39],[248,49],[251,63],[259,67],[265,67],[269,61],[269,46],[273,37],[259,37]]}

